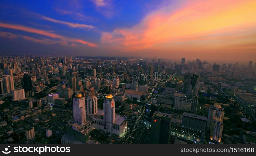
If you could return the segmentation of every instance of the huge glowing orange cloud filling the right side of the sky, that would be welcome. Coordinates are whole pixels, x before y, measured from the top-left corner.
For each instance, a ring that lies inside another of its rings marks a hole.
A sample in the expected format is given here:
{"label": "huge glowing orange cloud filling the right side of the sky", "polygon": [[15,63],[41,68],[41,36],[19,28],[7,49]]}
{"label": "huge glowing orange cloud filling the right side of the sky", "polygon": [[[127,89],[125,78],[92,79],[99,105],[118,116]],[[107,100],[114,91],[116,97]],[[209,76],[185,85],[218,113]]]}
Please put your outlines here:
{"label": "huge glowing orange cloud filling the right side of the sky", "polygon": [[103,32],[102,44],[122,51],[232,51],[255,42],[255,0],[193,0],[172,8],[161,7],[132,28]]}

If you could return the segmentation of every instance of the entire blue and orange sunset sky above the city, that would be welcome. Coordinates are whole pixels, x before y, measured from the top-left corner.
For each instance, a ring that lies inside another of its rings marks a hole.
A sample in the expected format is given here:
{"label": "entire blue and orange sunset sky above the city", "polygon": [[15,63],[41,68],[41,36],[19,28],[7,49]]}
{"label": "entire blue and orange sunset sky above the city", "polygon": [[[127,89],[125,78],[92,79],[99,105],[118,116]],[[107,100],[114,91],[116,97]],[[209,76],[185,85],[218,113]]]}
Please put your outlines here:
{"label": "entire blue and orange sunset sky above the city", "polygon": [[0,53],[256,61],[255,8],[255,0],[0,0]]}

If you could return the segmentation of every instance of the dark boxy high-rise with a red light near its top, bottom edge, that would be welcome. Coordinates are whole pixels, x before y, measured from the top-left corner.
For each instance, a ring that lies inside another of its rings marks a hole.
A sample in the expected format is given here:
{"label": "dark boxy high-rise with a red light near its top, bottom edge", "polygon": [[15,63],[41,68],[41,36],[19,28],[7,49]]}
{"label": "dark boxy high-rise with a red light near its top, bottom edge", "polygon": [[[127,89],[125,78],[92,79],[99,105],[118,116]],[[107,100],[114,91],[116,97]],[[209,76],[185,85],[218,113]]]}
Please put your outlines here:
{"label": "dark boxy high-rise with a red light near its top, bottom edge", "polygon": [[169,144],[170,130],[171,115],[155,112],[151,118],[150,142],[152,144]]}

